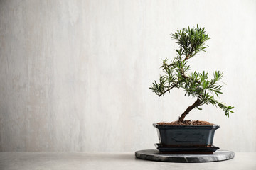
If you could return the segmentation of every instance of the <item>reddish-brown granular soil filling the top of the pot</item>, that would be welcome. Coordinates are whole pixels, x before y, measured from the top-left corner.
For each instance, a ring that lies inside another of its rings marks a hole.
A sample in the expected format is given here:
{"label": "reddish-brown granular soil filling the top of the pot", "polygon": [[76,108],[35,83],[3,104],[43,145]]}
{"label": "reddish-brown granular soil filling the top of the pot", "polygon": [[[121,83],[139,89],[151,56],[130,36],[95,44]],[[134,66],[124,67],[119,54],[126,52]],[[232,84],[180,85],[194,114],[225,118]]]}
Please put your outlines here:
{"label": "reddish-brown granular soil filling the top of the pot", "polygon": [[214,125],[213,123],[209,123],[201,120],[183,120],[182,122],[178,122],[177,120],[171,123],[160,122],[157,124],[158,125]]}

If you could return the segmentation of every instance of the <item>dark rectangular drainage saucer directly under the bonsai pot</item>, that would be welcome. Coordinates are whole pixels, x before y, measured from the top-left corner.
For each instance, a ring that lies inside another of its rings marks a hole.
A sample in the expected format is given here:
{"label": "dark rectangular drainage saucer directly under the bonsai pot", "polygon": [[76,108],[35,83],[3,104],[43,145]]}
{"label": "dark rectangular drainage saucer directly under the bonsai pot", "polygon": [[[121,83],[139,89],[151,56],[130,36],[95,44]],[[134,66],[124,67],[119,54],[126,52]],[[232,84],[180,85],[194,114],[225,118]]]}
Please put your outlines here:
{"label": "dark rectangular drainage saucer directly under the bonsai pot", "polygon": [[220,149],[214,145],[211,147],[163,147],[159,143],[156,143],[155,147],[161,154],[213,154]]}

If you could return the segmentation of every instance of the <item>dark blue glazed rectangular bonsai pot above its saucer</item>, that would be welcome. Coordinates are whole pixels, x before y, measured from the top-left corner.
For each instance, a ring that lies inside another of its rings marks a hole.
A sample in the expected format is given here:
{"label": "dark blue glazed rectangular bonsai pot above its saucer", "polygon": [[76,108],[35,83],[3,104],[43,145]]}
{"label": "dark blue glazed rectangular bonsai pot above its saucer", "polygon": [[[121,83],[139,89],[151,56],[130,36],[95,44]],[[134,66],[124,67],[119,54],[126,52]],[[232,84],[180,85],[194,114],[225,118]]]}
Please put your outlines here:
{"label": "dark blue glazed rectangular bonsai pot above its saucer", "polygon": [[211,147],[215,130],[220,125],[158,125],[159,143],[162,147]]}

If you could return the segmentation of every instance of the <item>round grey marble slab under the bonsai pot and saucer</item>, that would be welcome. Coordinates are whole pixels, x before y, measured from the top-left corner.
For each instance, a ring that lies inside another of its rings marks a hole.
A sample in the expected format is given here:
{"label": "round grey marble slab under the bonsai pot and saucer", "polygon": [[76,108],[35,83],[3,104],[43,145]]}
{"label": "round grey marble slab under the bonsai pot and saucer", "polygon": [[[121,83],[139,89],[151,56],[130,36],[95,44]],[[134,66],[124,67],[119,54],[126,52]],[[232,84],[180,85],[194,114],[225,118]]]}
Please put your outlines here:
{"label": "round grey marble slab under the bonsai pot and saucer", "polygon": [[135,157],[159,162],[218,162],[233,159],[235,153],[218,150],[213,154],[159,154],[159,150],[147,149],[135,152]]}

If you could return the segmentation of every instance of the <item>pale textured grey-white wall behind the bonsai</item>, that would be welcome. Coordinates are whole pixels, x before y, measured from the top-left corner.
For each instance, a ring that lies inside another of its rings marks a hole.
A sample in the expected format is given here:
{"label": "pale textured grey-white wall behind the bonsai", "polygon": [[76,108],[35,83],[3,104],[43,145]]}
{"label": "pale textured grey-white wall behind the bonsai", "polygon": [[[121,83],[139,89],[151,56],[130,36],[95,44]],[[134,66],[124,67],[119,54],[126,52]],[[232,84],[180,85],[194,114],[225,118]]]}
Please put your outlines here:
{"label": "pale textured grey-white wall behind the bonsai", "polygon": [[220,125],[214,144],[256,152],[256,1],[0,1],[0,151],[153,149],[151,125],[178,118],[195,99],[150,90],[169,34],[206,27],[198,71],[221,70],[221,101],[188,119]]}

